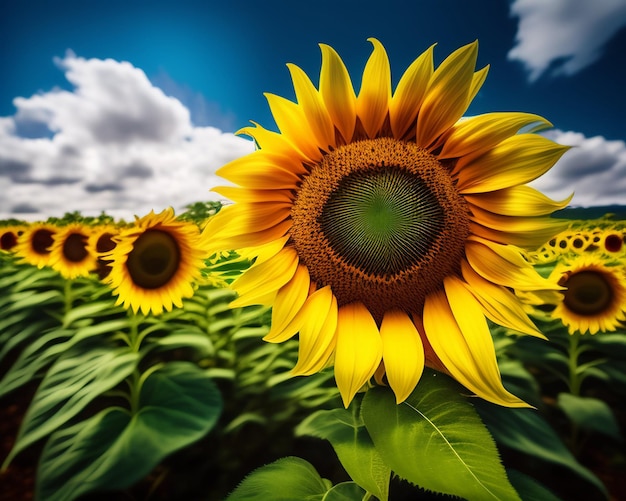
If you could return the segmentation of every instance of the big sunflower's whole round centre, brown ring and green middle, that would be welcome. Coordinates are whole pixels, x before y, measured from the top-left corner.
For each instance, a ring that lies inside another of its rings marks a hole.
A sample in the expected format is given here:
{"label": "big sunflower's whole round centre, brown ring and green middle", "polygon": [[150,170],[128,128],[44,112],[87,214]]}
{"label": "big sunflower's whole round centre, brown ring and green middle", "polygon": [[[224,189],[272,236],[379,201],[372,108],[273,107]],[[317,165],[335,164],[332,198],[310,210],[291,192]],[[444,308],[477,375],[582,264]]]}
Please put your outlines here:
{"label": "big sunflower's whole round centre, brown ring and green middle", "polygon": [[466,203],[449,170],[414,143],[364,140],[327,154],[302,182],[292,239],[318,286],[339,305],[363,302],[380,320],[421,314],[429,292],[459,270]]}

